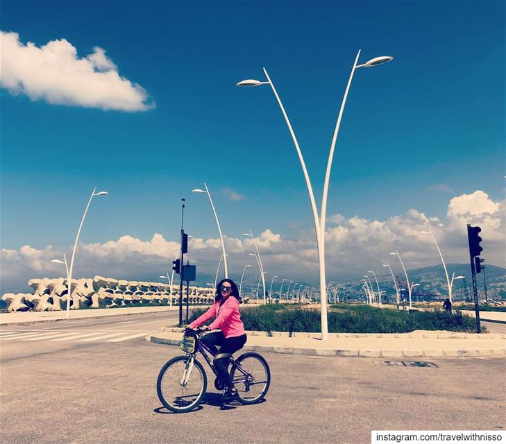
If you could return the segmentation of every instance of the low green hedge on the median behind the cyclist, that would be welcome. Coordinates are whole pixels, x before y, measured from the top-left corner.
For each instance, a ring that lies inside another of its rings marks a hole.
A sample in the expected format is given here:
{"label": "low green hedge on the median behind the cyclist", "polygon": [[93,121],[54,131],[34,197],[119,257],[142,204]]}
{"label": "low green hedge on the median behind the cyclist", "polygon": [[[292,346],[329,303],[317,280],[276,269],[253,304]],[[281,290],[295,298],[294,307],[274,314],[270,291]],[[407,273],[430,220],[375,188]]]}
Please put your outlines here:
{"label": "low green hedge on the median behind the cyclist", "polygon": [[[338,307],[339,311],[332,310]],[[367,305],[330,306],[328,331],[332,333],[405,333],[413,330],[450,330],[472,332],[475,320],[460,311],[399,311]],[[192,311],[190,321],[205,310]],[[266,305],[243,309],[241,318],[246,330],[271,332],[321,332],[320,311]]]}

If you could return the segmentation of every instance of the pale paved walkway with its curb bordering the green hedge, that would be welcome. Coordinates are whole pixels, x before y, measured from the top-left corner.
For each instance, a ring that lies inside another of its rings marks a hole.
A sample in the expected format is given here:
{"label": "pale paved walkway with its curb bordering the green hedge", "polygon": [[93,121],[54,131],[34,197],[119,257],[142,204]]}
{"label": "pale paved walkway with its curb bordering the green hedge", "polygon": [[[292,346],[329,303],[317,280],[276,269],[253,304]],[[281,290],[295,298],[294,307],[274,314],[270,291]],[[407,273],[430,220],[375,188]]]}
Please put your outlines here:
{"label": "pale paved walkway with its curb bordering the green hedge", "polygon": [[[146,336],[146,341],[179,345],[182,330],[166,327],[165,331]],[[321,341],[316,333],[246,332],[248,342],[243,350],[282,353],[285,355],[348,356],[383,358],[441,358],[506,355],[506,335],[427,332],[396,334],[329,333]]]}

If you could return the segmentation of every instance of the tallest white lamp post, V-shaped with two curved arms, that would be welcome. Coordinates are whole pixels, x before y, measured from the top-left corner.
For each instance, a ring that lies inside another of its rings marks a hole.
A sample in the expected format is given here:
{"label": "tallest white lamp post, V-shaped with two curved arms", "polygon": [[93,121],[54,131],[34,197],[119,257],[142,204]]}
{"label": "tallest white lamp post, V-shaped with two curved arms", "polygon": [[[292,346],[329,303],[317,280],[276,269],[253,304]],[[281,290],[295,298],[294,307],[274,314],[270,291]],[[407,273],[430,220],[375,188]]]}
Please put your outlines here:
{"label": "tallest white lamp post, V-shaped with two curved arms", "polygon": [[346,91],[344,92],[343,101],[341,103],[341,108],[339,110],[339,116],[337,117],[337,123],[334,130],[334,137],[332,138],[332,144],[330,146],[330,153],[328,156],[328,162],[327,162],[327,171],[325,175],[325,183],[323,185],[323,195],[321,200],[321,215],[318,215],[317,210],[317,204],[314,200],[314,193],[310,181],[309,174],[307,173],[307,169],[305,167],[304,157],[301,153],[301,148],[298,146],[298,142],[294,133],[294,130],[292,129],[292,124],[290,123],[287,113],[285,112],[285,108],[283,107],[281,103],[281,99],[278,96],[278,92],[276,92],[276,88],[274,87],[274,84],[272,83],[271,78],[269,77],[269,74],[267,73],[267,69],[264,68],[264,74],[267,77],[267,81],[260,81],[260,80],[242,80],[242,82],[237,83],[237,86],[244,86],[244,87],[253,87],[253,86],[260,86],[260,85],[271,85],[272,91],[274,95],[276,96],[276,99],[278,100],[278,104],[281,108],[281,112],[283,116],[285,117],[285,121],[287,123],[288,129],[290,134],[292,135],[292,139],[294,141],[295,149],[297,151],[298,159],[301,162],[301,167],[303,170],[306,186],[307,186],[307,193],[309,194],[310,198],[310,204],[314,219],[314,230],[317,237],[317,248],[318,248],[318,264],[319,264],[319,279],[320,279],[320,305],[321,305],[321,339],[323,341],[326,341],[328,339],[328,324],[327,324],[327,298],[326,298],[326,276],[325,276],[325,220],[326,220],[326,207],[327,207],[327,195],[328,195],[328,185],[330,181],[330,169],[332,167],[332,159],[334,156],[334,148],[335,143],[337,141],[337,133],[339,133],[339,126],[341,125],[341,118],[344,111],[344,105],[346,104],[346,98],[348,96],[348,91],[350,89],[351,80],[353,79],[353,74],[355,73],[355,69],[357,68],[366,68],[366,67],[374,67],[378,65],[382,65],[383,63],[389,62],[393,60],[393,57],[390,56],[381,56],[376,57],[368,62],[364,63],[363,65],[357,65],[358,58],[360,56],[360,50],[357,52],[357,57],[355,58],[355,62],[353,63],[353,68],[351,69],[351,75],[348,80],[348,85],[346,86]]}

